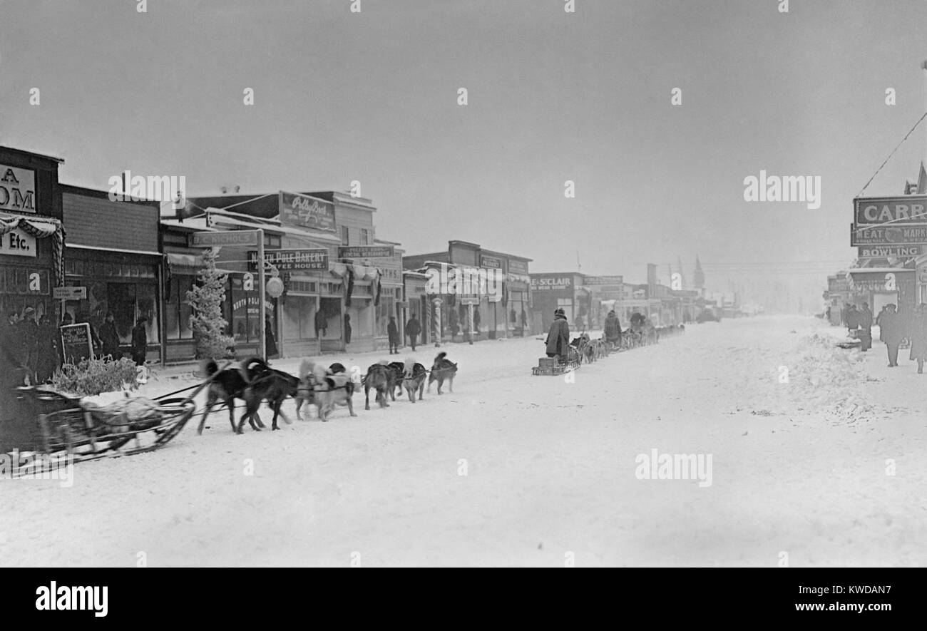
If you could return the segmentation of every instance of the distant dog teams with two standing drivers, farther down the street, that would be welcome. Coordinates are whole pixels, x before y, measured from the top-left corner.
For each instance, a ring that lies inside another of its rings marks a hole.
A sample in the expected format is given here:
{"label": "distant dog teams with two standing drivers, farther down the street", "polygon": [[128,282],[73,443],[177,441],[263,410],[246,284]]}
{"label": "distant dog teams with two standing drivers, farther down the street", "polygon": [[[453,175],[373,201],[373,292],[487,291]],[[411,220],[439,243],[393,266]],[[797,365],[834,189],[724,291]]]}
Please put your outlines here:
{"label": "distant dog teams with two standing drivers, farther down the street", "polygon": [[603,334],[598,339],[592,339],[587,332],[580,333],[570,340],[569,324],[566,321],[564,309],[553,312],[553,322],[547,335],[547,357],[558,358],[562,364],[591,363],[610,353],[630,350],[631,348],[657,344],[661,336],[685,333],[682,324],[676,326],[655,327],[654,323],[642,313],[631,314],[630,326],[621,330],[621,323],[615,310],[608,312],[605,317]]}

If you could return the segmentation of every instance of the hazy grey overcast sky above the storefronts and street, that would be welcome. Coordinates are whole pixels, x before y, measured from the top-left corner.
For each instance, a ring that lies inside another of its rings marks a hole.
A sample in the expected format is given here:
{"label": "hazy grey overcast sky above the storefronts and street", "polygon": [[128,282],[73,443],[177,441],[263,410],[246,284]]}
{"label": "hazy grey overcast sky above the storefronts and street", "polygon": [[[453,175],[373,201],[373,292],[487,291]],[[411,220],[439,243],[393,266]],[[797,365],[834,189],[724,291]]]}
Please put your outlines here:
{"label": "hazy grey overcast sky above the storefronts and street", "polygon": [[[463,239],[567,271],[579,251],[635,282],[678,258],[691,279],[698,254],[719,290],[819,298],[856,254],[853,197],[927,108],[922,0],[350,5],[6,0],[0,144],[100,189],[126,168],[191,196],[358,180],[410,254]],[[901,193],[925,147],[921,127],[866,195]],[[820,176],[820,208],[745,202],[759,170]]]}

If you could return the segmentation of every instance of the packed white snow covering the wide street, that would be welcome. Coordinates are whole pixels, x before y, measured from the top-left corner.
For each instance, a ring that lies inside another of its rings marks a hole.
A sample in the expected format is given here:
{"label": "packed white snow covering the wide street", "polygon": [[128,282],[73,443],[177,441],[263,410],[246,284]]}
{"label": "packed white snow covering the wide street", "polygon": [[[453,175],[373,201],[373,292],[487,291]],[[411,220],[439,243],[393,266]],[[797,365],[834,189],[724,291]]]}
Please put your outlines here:
{"label": "packed white snow covering the wide street", "polygon": [[927,375],[839,336],[693,324],[572,383],[531,375],[533,338],[442,347],[453,394],[355,395],[358,418],[245,435],[221,410],[202,436],[75,465],[70,487],[0,480],[0,564],[927,564]]}

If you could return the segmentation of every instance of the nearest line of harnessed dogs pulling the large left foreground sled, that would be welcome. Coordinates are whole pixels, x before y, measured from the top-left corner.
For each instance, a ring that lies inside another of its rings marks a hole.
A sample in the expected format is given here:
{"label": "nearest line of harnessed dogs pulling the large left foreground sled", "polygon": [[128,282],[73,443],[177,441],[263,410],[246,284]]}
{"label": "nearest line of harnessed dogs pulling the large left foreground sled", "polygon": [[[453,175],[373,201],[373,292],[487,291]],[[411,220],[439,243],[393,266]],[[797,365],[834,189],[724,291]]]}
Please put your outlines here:
{"label": "nearest line of harnessed dogs pulling the large left foreground sled", "polygon": [[[197,434],[203,433],[206,419],[214,408],[224,405],[229,413],[232,430],[242,434],[245,423],[259,431],[265,427],[260,421],[258,409],[263,401],[273,410],[271,422],[274,430],[279,429],[278,418],[287,424],[292,423],[282,410],[287,398],[296,401],[296,415],[302,419],[303,405],[315,406],[321,421],[328,421],[332,411],[347,407],[350,416],[354,412],[353,396],[361,388],[364,391],[364,410],[370,410],[370,391],[374,390],[375,403],[381,408],[389,407],[389,400],[395,401],[405,390],[410,402],[422,399],[425,391],[431,391],[431,385],[438,383],[438,395],[441,388],[448,383],[453,392],[454,375],[457,364],[447,359],[447,353],[440,352],[432,363],[431,370],[414,360],[393,361],[380,360],[367,369],[364,375],[349,374],[345,366],[333,363],[324,366],[312,360],[303,360],[299,374],[276,370],[265,360],[252,357],[240,364],[219,367],[215,360],[208,360],[203,365],[207,375],[206,408],[199,420]],[[358,376],[360,378],[358,379]],[[425,387],[427,380],[427,388]],[[245,412],[235,423],[235,401],[244,402]]]}

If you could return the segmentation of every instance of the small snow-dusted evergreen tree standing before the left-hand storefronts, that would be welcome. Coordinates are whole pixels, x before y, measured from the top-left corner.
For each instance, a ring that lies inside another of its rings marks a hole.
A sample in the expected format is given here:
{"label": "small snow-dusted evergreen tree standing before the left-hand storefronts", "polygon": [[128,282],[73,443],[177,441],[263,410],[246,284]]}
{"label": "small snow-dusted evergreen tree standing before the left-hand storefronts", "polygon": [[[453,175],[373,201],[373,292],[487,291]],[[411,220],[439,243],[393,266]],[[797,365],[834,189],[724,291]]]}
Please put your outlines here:
{"label": "small snow-dusted evergreen tree standing before the left-hand storefronts", "polygon": [[204,266],[198,274],[199,283],[186,293],[186,301],[193,307],[190,326],[197,345],[197,360],[226,357],[229,349],[235,346],[235,340],[225,334],[228,322],[222,317],[228,274],[216,269],[217,258],[211,248],[203,252]]}

